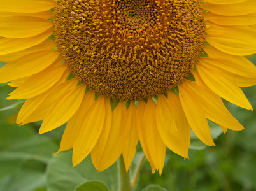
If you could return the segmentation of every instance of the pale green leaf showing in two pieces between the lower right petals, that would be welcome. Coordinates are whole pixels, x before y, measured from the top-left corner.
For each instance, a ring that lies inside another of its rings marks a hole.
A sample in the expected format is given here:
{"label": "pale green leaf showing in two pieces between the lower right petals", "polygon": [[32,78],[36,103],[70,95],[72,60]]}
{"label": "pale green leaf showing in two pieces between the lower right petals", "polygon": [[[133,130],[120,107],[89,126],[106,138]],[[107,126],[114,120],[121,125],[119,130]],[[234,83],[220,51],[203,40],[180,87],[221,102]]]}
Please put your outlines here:
{"label": "pale green leaf showing in two pieces between the lower right petals", "polygon": [[[214,139],[217,139],[218,136],[220,136],[223,131],[220,128],[220,126],[218,124],[215,124],[214,122],[211,122],[210,120],[208,120],[208,124],[210,127],[210,131],[211,131],[211,137]],[[193,131],[191,131],[191,141],[190,141],[190,149],[194,149],[194,150],[202,150],[204,148],[206,148],[207,145],[205,145],[204,143],[202,143],[196,136],[196,134],[194,134]]]}

